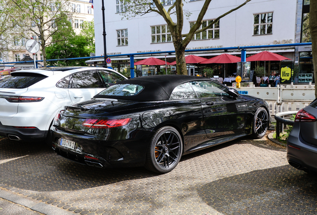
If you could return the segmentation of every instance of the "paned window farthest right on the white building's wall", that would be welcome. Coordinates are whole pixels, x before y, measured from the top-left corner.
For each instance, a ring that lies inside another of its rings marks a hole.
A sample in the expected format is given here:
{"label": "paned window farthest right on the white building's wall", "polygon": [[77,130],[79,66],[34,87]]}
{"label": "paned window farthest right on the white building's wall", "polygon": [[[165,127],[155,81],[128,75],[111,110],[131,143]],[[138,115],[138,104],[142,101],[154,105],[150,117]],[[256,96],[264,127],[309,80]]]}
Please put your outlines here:
{"label": "paned window farthest right on the white building's wall", "polygon": [[254,14],[253,35],[272,34],[273,12]]}

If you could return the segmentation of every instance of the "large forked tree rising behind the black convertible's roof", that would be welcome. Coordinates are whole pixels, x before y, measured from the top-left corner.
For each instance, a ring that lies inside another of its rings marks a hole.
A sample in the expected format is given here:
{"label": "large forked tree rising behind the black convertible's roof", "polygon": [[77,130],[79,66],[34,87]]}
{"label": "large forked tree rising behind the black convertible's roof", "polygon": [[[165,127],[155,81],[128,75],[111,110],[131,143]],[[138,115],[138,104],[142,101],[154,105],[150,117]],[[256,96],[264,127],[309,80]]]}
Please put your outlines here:
{"label": "large forked tree rising behind the black convertible's roof", "polygon": [[[206,14],[208,6],[211,2],[211,0],[205,0],[195,23],[191,26],[189,32],[186,34],[182,34],[184,15],[189,16],[190,13],[188,11],[183,10],[183,0],[174,0],[174,3],[169,8],[167,8],[167,10],[164,8],[160,0],[125,0],[125,12],[123,12],[122,14],[123,17],[126,18],[135,17],[137,15],[144,15],[150,12],[156,12],[160,16],[162,16],[165,22],[167,23],[167,26],[169,27],[173,45],[175,48],[177,73],[187,75],[185,49],[190,40],[192,39],[192,37],[196,33],[200,33],[207,30],[220,18],[231,13],[232,11],[239,9],[249,1],[250,0],[246,0],[241,5],[218,16],[216,19],[214,19],[213,22],[208,23],[207,26],[199,29],[199,27],[202,24],[204,15]],[[176,15],[176,21],[173,21],[171,14]]]}

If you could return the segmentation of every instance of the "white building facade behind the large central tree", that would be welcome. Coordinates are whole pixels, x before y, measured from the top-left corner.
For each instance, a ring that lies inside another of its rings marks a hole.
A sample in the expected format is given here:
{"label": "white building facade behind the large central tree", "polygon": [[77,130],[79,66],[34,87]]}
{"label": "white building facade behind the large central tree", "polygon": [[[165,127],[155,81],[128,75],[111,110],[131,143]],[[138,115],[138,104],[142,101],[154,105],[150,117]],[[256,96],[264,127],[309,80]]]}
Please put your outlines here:
{"label": "white building facade behind the large central tree", "polygon": [[[162,2],[165,4],[165,9],[167,9],[174,1],[165,0]],[[183,33],[189,31],[204,2],[204,0],[184,2],[184,11],[189,11],[191,15],[188,19],[184,18]],[[243,2],[244,0],[227,0],[225,3],[221,0],[211,1],[202,25],[208,24],[209,21]],[[123,19],[122,16],[122,12],[125,9],[124,0],[111,0],[105,3],[107,55],[174,50],[171,36],[163,17],[151,12],[127,20]],[[197,50],[197,52],[186,54],[210,58],[224,51],[199,52],[199,49],[307,42],[309,41],[307,38],[302,41],[303,21],[305,25],[305,20],[307,20],[305,19],[307,17],[307,4],[309,5],[309,0],[252,0],[238,10],[221,18],[218,23],[207,31],[196,34],[188,44],[187,49]],[[101,6],[102,1],[94,2],[97,56],[104,55]],[[303,8],[306,9],[304,12]],[[172,19],[176,21],[176,16],[172,16]],[[306,35],[306,37],[308,36]],[[299,59],[302,59],[299,56],[301,52],[304,52],[303,49],[311,50],[311,47],[248,49],[247,56],[267,50],[288,57],[292,59],[293,64],[296,64],[300,63]],[[237,56],[241,54],[239,50],[228,52]],[[164,59],[165,56],[161,54],[156,57]],[[167,61],[174,61],[174,57],[173,55],[167,55]],[[137,60],[144,58],[146,56],[135,56]],[[118,60],[118,62],[121,60],[122,63],[126,64],[126,67],[129,64],[128,57],[114,57],[112,60]],[[96,59],[93,61],[101,63],[100,61],[102,60]],[[89,61],[89,63],[93,61]],[[270,71],[279,72],[281,68],[281,62],[275,61],[266,62],[266,64],[264,62],[252,64],[253,67],[255,65],[265,65],[268,73]],[[235,68],[229,65],[228,69],[234,71]],[[230,75],[230,72],[227,75]]]}

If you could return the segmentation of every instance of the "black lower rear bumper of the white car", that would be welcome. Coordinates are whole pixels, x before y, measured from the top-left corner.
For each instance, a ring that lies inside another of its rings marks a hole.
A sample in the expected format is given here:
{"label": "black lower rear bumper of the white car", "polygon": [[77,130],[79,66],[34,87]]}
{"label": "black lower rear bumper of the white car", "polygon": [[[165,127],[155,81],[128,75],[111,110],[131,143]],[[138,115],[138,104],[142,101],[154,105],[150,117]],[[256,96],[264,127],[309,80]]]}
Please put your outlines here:
{"label": "black lower rear bumper of the white car", "polygon": [[11,140],[35,141],[46,137],[47,131],[38,128],[14,128],[2,125],[0,122],[0,136],[8,137]]}

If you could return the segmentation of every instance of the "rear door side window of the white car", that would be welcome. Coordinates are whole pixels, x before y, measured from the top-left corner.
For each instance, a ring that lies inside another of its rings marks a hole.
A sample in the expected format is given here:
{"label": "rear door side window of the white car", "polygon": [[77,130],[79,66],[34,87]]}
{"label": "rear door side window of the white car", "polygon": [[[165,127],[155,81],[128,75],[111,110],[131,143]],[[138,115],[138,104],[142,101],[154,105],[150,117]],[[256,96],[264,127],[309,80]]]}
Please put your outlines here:
{"label": "rear door side window of the white car", "polygon": [[99,74],[95,70],[82,71],[73,74],[70,88],[104,88]]}

